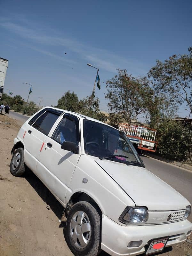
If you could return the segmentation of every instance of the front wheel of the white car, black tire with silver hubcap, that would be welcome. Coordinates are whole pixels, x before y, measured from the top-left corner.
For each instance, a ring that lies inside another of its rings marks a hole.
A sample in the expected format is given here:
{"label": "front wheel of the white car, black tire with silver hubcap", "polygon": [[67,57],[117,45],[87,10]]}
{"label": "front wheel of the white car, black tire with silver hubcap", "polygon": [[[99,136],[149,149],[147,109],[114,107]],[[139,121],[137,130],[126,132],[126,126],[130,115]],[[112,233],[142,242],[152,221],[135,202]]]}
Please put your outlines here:
{"label": "front wheel of the white car, black tire with silver hubcap", "polygon": [[101,252],[101,217],[96,208],[91,202],[81,201],[68,213],[64,234],[75,256],[97,256]]}

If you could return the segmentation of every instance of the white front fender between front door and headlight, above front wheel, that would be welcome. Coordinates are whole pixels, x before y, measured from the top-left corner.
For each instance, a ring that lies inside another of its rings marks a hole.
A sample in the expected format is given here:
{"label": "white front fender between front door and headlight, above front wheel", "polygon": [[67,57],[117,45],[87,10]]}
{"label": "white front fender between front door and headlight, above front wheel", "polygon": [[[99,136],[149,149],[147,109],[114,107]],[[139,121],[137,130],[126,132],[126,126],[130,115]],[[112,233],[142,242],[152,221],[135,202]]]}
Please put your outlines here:
{"label": "white front fender between front door and headlight, above front wheel", "polygon": [[[91,196],[104,214],[119,223],[119,216],[127,205],[135,206],[132,199],[104,172],[92,156],[81,155],[70,182],[73,193],[84,192]],[[87,183],[83,183],[86,178]],[[66,196],[68,202],[71,195]]]}

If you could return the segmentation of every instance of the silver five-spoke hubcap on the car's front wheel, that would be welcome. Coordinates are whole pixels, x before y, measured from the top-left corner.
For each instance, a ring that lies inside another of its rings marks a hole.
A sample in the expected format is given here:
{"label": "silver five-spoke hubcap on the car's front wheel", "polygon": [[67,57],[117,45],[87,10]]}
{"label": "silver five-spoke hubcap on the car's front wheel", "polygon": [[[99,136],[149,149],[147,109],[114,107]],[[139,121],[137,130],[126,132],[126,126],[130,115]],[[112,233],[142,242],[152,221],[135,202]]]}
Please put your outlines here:
{"label": "silver five-spoke hubcap on the car's front wheel", "polygon": [[87,214],[76,212],[70,222],[70,235],[77,248],[84,248],[91,238],[91,224]]}

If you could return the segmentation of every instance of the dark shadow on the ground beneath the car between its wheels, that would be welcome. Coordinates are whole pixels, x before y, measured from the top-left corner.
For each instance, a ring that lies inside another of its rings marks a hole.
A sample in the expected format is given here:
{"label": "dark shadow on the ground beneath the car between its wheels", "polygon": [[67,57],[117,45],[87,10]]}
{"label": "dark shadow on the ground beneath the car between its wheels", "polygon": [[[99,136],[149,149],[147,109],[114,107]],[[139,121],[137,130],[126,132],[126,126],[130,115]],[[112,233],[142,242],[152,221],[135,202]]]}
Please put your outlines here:
{"label": "dark shadow on the ground beneath the car between its wheels", "polygon": [[39,178],[32,171],[27,170],[25,179],[28,181],[31,187],[35,189],[42,200],[50,206],[51,210],[60,220],[64,211],[64,207],[60,204],[60,202],[52,195],[48,188],[45,187],[41,180],[39,180]]}

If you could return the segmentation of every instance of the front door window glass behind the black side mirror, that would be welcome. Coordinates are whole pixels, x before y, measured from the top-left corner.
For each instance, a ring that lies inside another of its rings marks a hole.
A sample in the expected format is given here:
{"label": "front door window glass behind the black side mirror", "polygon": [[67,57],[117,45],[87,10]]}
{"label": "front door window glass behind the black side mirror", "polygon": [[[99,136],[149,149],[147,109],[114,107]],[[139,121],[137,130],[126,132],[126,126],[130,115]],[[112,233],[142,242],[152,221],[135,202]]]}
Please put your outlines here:
{"label": "front door window glass behind the black side mirror", "polygon": [[60,144],[64,141],[79,142],[79,127],[76,125],[77,123],[78,121],[75,122],[75,120],[64,117],[53,133],[52,139]]}

